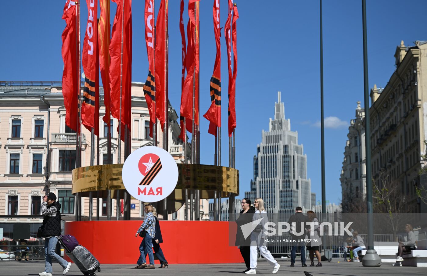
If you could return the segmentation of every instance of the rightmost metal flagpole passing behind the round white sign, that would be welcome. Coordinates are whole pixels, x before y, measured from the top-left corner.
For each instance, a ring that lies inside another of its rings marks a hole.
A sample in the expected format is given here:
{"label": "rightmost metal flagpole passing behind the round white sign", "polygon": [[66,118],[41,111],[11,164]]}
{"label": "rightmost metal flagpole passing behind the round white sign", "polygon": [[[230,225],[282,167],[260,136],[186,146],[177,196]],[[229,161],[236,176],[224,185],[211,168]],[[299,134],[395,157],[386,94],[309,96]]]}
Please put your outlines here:
{"label": "rightmost metal flagpole passing behind the round white sign", "polygon": [[[165,18],[164,18],[164,43],[165,43],[165,60],[164,60],[164,126],[163,126],[163,149],[169,152],[169,34],[168,34],[168,13],[165,9]],[[167,220],[167,198],[163,200],[164,210],[163,210],[163,220]]]}

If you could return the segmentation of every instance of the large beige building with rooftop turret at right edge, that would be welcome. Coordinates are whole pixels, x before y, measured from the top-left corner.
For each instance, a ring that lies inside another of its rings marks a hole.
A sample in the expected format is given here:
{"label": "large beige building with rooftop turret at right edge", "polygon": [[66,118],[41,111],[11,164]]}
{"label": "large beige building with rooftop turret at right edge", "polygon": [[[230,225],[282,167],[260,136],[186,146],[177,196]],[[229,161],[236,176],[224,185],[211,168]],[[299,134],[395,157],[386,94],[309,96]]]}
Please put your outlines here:
{"label": "large beige building with rooftop turret at right edge", "polygon": [[418,172],[424,161],[427,139],[427,41],[405,46],[395,52],[396,70],[383,88],[371,89],[372,176],[380,183],[384,172],[406,197],[409,211],[421,210],[415,194]]}

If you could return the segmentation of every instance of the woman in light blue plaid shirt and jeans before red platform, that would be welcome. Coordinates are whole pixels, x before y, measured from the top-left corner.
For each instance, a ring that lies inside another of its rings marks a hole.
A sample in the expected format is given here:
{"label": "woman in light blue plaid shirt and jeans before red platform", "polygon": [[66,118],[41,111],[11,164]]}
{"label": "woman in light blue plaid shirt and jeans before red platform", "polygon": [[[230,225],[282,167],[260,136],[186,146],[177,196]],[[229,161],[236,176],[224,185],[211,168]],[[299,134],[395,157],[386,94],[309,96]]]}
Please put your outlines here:
{"label": "woman in light blue plaid shirt and jeans before red platform", "polygon": [[[140,258],[137,261],[137,267],[135,268],[144,268],[144,269],[154,269],[154,255],[153,255],[153,237],[155,237],[156,229],[156,219],[153,214],[153,206],[151,204],[146,204],[144,206],[144,211],[146,213],[144,217],[144,221],[139,226],[138,231],[135,234],[135,237],[138,236],[140,233],[143,238],[141,241],[141,244],[139,246],[140,251]],[[148,258],[150,261],[150,264],[147,265],[145,256],[148,254]]]}

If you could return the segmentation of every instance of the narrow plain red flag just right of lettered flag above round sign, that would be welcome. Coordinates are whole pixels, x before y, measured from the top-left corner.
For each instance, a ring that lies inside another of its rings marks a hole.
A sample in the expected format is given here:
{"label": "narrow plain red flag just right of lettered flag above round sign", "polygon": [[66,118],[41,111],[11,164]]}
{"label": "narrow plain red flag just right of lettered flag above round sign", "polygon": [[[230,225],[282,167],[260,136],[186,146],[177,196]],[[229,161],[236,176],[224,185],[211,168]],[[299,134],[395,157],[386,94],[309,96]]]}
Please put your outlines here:
{"label": "narrow plain red flag just right of lettered flag above round sign", "polygon": [[156,85],[156,117],[159,119],[161,129],[165,122],[165,92],[166,92],[166,33],[168,20],[169,0],[162,0],[157,15],[156,45],[155,45],[155,85]]}

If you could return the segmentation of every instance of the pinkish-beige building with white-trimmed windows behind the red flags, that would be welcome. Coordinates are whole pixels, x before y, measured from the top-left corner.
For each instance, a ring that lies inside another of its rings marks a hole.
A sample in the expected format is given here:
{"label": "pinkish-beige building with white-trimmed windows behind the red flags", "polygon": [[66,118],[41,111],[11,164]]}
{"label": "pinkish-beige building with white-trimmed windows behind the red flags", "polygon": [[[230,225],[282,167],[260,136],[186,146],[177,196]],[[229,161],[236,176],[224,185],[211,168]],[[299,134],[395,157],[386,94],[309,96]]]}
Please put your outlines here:
{"label": "pinkish-beige building with white-trimmed windows behind the red flags", "polygon": [[[100,88],[99,164],[107,160],[106,124],[103,90]],[[177,163],[184,162],[184,147],[178,139],[180,127],[175,109],[169,108],[168,150]],[[143,84],[132,82],[132,151],[152,145],[149,137],[149,112],[143,95]],[[111,155],[117,163],[117,126],[111,120]],[[163,133],[158,124],[158,146]],[[82,166],[91,164],[91,133],[82,127]],[[95,139],[96,141],[96,139]],[[95,142],[96,146],[96,142]],[[187,144],[187,153],[190,153]],[[96,152],[96,151],[95,151]],[[124,143],[122,143],[124,160]],[[3,82],[0,84],[0,224],[12,222],[41,223],[41,197],[48,186],[62,205],[62,219],[75,220],[75,199],[71,194],[71,170],[75,168],[76,133],[65,125],[64,99],[61,82]],[[94,164],[97,164],[95,159]],[[131,217],[143,216],[141,202],[132,199]],[[100,217],[106,219],[106,199],[94,198],[93,216],[97,205]],[[120,205],[119,205],[120,206]],[[200,214],[208,217],[208,200],[200,200]],[[112,219],[117,202],[112,200]],[[120,208],[120,207],[119,207]],[[89,199],[82,199],[82,218],[88,219]],[[160,216],[161,217],[161,216]],[[184,207],[169,215],[184,219]],[[1,227],[0,227],[1,228]]]}

